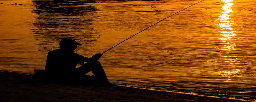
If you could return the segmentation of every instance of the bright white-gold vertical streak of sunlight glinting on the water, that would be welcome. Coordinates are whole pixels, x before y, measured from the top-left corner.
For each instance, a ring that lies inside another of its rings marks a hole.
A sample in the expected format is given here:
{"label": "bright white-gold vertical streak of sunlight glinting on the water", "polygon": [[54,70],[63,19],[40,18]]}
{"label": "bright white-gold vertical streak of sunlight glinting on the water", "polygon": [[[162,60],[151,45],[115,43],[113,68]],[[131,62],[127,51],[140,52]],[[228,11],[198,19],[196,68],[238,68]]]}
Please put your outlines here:
{"label": "bright white-gold vertical streak of sunlight glinting on the water", "polygon": [[[216,25],[220,27],[220,34],[222,35],[219,38],[225,44],[221,47],[221,52],[223,52],[223,57],[225,58],[225,62],[229,64],[235,64],[235,62],[239,62],[239,59],[236,56],[230,55],[232,51],[236,50],[236,43],[233,41],[236,40],[236,31],[232,28],[234,25],[234,21],[231,18],[231,12],[233,10],[231,7],[234,5],[233,0],[221,0],[221,2],[225,3],[222,6],[222,15],[219,16],[219,21]],[[235,68],[236,66],[231,66],[231,68]],[[241,74],[240,70],[228,70],[228,71],[218,71],[217,76],[225,76],[227,79],[225,82],[232,82],[231,78],[239,76]]]}

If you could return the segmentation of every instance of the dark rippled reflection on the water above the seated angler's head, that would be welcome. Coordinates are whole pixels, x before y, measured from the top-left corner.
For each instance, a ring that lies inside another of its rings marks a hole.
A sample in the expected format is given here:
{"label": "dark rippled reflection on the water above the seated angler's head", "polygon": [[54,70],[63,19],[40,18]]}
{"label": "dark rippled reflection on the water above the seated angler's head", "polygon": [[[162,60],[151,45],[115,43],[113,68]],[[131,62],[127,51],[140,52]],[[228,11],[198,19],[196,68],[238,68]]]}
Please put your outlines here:
{"label": "dark rippled reflection on the water above the seated angler's head", "polygon": [[95,34],[93,14],[97,9],[93,0],[33,0],[35,7],[32,12],[37,14],[32,25],[31,33],[34,34],[40,51],[56,48],[64,37],[81,40],[83,44],[90,44],[100,37]]}

